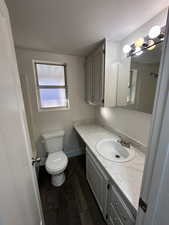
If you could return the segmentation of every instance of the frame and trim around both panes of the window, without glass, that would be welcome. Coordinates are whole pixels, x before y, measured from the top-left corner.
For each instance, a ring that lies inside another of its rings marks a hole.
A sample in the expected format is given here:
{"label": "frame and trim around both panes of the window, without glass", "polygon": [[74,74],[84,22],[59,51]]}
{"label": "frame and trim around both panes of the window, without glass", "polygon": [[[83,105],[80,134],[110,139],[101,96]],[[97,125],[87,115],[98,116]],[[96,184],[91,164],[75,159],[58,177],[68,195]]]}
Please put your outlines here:
{"label": "frame and trim around both panes of the window, without glass", "polygon": [[[38,106],[38,112],[44,112],[44,111],[57,111],[57,110],[68,110],[70,109],[69,104],[69,98],[68,98],[68,85],[67,85],[67,64],[66,63],[57,63],[57,62],[49,62],[49,61],[41,61],[41,60],[32,60],[33,63],[33,70],[34,70],[34,80],[35,80],[35,90],[36,90],[36,100],[37,100],[37,106]],[[55,65],[55,66],[64,66],[64,79],[65,79],[65,85],[62,86],[56,86],[56,85],[39,85],[38,82],[38,74],[37,74],[37,64],[43,64],[43,65]],[[40,99],[40,88],[45,89],[65,89],[67,104],[66,106],[56,106],[56,107],[42,107],[41,106],[41,99]]]}

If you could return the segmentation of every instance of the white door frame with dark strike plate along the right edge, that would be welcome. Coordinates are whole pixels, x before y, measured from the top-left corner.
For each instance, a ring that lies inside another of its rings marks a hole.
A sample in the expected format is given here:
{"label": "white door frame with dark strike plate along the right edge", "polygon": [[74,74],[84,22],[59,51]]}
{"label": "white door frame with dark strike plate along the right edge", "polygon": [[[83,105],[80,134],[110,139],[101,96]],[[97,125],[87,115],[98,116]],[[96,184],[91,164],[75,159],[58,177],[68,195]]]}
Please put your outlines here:
{"label": "white door frame with dark strike plate along the right edge", "polygon": [[[157,84],[153,125],[146,159],[137,225],[168,225],[169,221],[169,17]],[[145,208],[145,207],[144,207]]]}

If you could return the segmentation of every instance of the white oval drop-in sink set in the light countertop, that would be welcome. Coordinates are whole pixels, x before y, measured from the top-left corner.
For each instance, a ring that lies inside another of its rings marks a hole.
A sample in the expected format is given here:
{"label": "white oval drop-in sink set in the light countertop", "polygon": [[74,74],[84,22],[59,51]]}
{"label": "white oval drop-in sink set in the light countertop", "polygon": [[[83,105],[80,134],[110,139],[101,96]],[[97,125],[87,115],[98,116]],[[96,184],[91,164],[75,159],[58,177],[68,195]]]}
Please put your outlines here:
{"label": "white oval drop-in sink set in the light countertop", "polygon": [[118,140],[103,139],[96,145],[96,151],[105,159],[113,162],[127,162],[135,156],[132,146],[130,148],[122,146]]}

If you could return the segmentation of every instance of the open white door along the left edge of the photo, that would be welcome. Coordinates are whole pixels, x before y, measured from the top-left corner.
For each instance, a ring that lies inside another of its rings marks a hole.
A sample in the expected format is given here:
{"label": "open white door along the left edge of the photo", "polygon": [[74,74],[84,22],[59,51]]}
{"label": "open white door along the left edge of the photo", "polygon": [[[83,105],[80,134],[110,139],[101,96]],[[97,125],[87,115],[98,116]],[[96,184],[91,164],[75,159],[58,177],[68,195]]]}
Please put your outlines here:
{"label": "open white door along the left edge of the photo", "polygon": [[0,224],[43,224],[8,10],[0,0]]}

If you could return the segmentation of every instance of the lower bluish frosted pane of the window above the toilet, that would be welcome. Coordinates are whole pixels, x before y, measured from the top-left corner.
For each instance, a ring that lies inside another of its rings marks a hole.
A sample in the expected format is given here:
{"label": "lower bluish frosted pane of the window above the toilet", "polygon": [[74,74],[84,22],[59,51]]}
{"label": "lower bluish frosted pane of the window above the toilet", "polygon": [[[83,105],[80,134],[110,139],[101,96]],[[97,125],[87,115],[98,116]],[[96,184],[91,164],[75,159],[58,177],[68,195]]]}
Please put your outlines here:
{"label": "lower bluish frosted pane of the window above the toilet", "polygon": [[64,88],[40,88],[40,104],[42,108],[66,107],[67,99]]}

